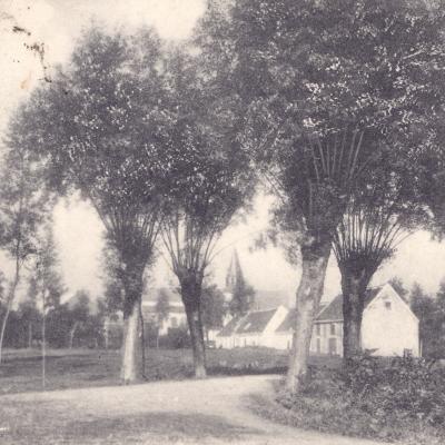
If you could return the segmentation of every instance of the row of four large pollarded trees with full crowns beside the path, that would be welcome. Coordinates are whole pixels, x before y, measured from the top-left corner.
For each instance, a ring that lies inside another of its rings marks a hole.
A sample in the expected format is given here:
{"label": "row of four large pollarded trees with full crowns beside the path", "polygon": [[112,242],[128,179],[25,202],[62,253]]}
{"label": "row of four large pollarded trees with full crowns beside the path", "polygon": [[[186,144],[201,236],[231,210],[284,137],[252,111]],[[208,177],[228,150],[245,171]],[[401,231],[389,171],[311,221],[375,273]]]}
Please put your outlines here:
{"label": "row of four large pollarded trees with full crowns beside the path", "polygon": [[18,110],[11,152],[38,159],[47,189],[80,191],[103,222],[122,289],[125,382],[141,376],[141,293],[157,241],[205,376],[202,283],[256,180],[277,196],[276,229],[303,268],[288,388],[307,375],[332,249],[345,356],[359,352],[374,273],[406,234],[443,225],[439,3],[209,1],[192,41],[175,49],[151,30],[91,29]]}

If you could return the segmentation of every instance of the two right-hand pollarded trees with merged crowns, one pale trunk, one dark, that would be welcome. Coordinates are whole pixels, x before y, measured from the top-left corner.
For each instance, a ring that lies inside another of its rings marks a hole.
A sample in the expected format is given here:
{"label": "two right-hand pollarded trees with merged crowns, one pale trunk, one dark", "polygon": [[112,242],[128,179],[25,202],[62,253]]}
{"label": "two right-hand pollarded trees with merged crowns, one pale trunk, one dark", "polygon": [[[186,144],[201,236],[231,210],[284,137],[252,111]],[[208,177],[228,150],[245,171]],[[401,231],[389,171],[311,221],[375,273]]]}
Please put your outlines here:
{"label": "two right-hand pollarded trees with merged crowns, one pale trunk, one dark", "polygon": [[208,73],[245,105],[243,147],[279,197],[278,231],[300,248],[290,390],[307,374],[332,248],[347,359],[374,273],[441,215],[443,29],[442,2],[403,0],[212,2],[204,21]]}

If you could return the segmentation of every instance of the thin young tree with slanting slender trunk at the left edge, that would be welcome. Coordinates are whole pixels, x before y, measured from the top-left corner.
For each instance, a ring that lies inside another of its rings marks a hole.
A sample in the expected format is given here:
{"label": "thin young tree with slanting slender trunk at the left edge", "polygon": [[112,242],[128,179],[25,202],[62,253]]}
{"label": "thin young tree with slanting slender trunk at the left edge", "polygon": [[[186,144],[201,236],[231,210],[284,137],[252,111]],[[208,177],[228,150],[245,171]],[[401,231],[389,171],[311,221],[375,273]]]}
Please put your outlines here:
{"label": "thin young tree with slanting slender trunk at the left edge", "polygon": [[52,199],[43,184],[41,164],[23,147],[18,120],[10,123],[8,151],[0,177],[0,248],[13,263],[13,276],[4,293],[0,327],[0,363],[9,315],[22,278],[23,266],[37,251],[37,235],[46,221]]}

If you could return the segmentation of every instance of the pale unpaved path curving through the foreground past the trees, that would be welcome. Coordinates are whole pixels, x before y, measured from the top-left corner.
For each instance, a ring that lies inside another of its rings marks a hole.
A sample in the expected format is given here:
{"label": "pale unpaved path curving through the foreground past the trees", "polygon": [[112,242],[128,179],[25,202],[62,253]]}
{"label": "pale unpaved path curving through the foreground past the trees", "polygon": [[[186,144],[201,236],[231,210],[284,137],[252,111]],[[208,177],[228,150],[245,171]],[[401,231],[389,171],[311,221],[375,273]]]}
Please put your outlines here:
{"label": "pale unpaved path curving through the foreground past the trees", "polygon": [[13,412],[7,411],[0,418],[0,443],[373,444],[256,416],[246,407],[246,396],[270,392],[274,378],[227,377],[7,395],[0,397],[0,407],[16,407],[23,419],[8,418]]}

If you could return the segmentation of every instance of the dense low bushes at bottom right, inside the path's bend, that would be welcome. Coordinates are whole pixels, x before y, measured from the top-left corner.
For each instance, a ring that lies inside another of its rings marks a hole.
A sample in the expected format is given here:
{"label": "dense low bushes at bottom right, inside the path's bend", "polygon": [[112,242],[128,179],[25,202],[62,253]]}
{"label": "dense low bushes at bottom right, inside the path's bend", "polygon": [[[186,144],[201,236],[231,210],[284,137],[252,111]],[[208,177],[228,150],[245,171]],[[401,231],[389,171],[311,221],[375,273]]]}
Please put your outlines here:
{"label": "dense low bushes at bottom right, inside the path's bend", "polygon": [[[275,421],[324,432],[442,444],[445,438],[445,372],[414,357],[364,355],[338,370],[312,368],[297,395],[278,392]],[[273,413],[275,411],[275,413]]]}

